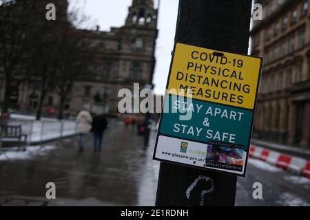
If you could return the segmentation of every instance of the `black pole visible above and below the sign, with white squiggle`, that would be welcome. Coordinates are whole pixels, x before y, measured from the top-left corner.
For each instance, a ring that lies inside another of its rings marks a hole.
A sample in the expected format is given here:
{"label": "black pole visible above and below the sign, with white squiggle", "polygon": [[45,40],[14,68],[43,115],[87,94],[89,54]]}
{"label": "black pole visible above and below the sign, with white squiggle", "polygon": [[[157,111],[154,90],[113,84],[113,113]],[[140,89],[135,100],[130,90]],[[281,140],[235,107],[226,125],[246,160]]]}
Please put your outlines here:
{"label": "black pole visible above and below the sign, with white squiggle", "polygon": [[[251,0],[180,0],[175,41],[247,54]],[[161,162],[156,206],[234,206],[234,175]]]}

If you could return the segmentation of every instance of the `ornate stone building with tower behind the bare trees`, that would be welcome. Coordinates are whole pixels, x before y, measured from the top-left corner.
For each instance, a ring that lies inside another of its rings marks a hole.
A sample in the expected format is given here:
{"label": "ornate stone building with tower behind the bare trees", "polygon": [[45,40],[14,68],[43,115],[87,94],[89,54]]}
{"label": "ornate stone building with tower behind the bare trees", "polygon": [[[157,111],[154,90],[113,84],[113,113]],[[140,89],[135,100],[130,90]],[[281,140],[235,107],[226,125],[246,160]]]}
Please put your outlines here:
{"label": "ornate stone building with tower behind the bare trees", "polygon": [[[83,108],[96,113],[116,113],[118,90],[133,89],[139,83],[143,89],[152,83],[155,66],[155,43],[158,30],[157,9],[153,0],[133,0],[125,25],[111,28],[109,32],[76,30],[83,32],[85,41],[96,48],[94,65],[89,74],[79,78],[65,103],[65,114],[76,115]],[[4,91],[0,76],[0,102]],[[40,82],[23,83],[18,92],[20,111],[34,111],[40,96]],[[2,88],[2,89],[1,89]],[[59,95],[50,91],[45,100],[45,109],[59,106]]]}

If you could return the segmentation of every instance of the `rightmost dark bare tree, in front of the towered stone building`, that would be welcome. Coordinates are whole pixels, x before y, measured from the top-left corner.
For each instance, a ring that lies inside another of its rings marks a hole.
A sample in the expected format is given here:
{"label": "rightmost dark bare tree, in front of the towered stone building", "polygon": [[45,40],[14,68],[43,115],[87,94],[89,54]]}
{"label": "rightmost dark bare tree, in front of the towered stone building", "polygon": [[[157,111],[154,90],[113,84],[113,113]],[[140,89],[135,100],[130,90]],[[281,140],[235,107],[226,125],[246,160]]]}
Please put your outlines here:
{"label": "rightmost dark bare tree, in front of the towered stone building", "polygon": [[59,60],[56,77],[56,90],[59,94],[58,117],[63,119],[65,100],[67,100],[76,80],[87,76],[92,65],[96,48],[90,47],[87,34],[76,26],[90,25],[90,18],[86,17],[79,6],[70,8],[68,14],[70,28],[63,29],[59,39]]}

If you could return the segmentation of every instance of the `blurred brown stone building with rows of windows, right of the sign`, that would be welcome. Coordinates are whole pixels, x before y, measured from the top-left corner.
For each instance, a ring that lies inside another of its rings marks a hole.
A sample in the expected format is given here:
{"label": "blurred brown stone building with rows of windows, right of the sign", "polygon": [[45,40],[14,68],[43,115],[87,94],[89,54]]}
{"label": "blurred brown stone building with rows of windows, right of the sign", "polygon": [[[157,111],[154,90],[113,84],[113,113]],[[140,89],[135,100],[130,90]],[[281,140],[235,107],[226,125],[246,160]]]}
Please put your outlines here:
{"label": "blurred brown stone building with rows of windows, right of the sign", "polygon": [[251,54],[264,57],[254,137],[310,146],[309,0],[256,1]]}

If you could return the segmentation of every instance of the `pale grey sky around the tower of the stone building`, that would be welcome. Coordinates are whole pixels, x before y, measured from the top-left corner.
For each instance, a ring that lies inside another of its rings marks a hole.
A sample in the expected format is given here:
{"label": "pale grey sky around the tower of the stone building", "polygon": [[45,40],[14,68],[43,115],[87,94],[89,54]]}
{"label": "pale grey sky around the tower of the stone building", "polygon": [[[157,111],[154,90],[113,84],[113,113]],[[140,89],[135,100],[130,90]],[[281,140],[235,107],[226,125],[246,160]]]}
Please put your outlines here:
{"label": "pale grey sky around the tower of the stone building", "polygon": [[[76,0],[71,0],[75,1]],[[155,0],[155,6],[157,5]],[[79,1],[81,4],[81,1]],[[83,0],[84,12],[92,23],[100,25],[101,30],[121,27],[125,24],[128,7],[132,0]],[[154,75],[155,93],[164,94],[169,72],[171,51],[174,45],[178,0],[162,0],[158,16],[159,35],[156,44],[156,69]]]}

